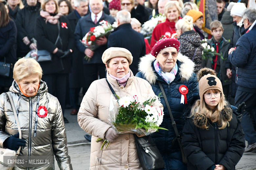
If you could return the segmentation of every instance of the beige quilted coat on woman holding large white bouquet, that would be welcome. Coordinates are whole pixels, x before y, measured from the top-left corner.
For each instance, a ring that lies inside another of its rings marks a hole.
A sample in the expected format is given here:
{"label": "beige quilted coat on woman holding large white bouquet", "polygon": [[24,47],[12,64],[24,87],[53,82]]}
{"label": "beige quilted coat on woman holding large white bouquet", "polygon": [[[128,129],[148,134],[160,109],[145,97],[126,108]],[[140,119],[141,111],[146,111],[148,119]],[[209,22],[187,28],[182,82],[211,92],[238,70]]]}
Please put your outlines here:
{"label": "beige quilted coat on woman holding large white bouquet", "polygon": [[[117,80],[109,74],[107,79],[118,96],[137,95],[144,102],[143,94],[155,94],[146,80],[133,76],[132,72],[125,87],[119,86]],[[95,142],[98,138],[105,139],[105,132],[111,127],[108,121],[111,94],[105,78],[94,81],[78,111],[77,119],[80,127],[92,134],[90,170],[142,170],[132,133],[119,135],[116,142],[111,142],[102,150],[100,147],[103,142]]]}

